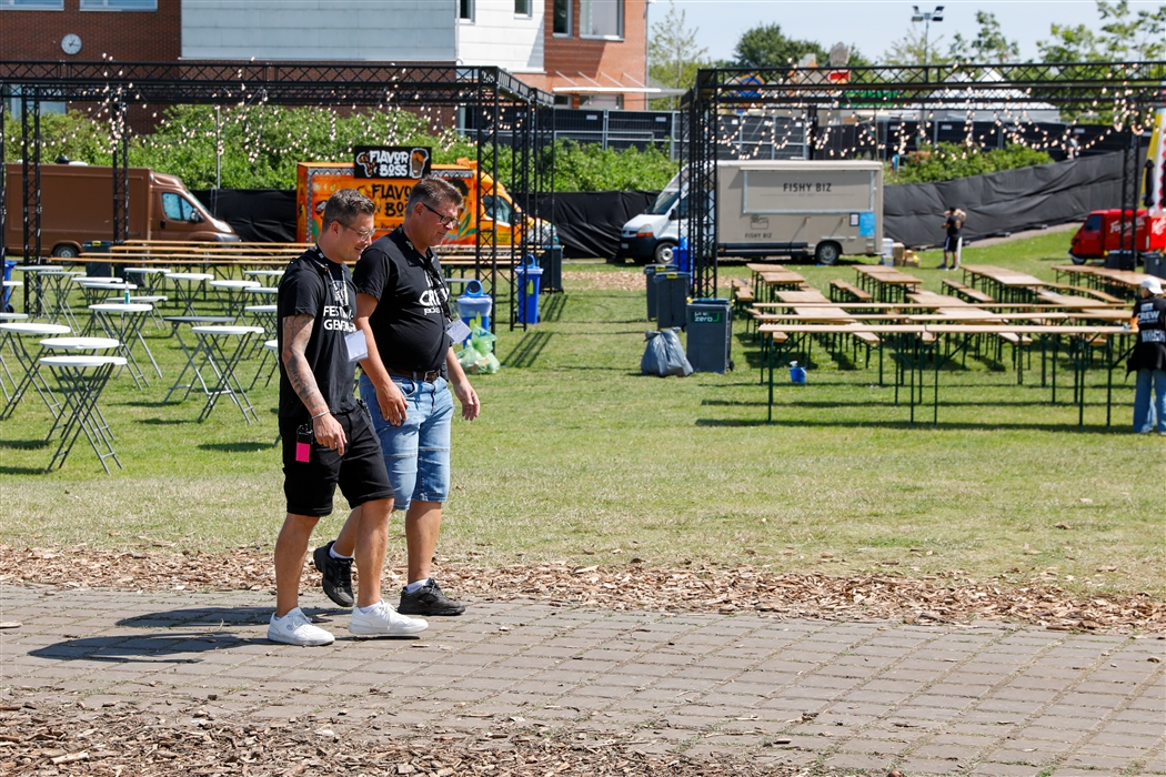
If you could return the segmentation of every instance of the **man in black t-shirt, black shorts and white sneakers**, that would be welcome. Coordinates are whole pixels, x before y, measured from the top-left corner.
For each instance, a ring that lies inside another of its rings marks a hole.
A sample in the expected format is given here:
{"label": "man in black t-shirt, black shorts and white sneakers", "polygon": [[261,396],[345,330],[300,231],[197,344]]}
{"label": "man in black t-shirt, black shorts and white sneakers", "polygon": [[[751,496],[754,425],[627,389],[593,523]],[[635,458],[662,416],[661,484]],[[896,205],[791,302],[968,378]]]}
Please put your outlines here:
{"label": "man in black t-shirt, black shorts and white sneakers", "polygon": [[324,206],[317,245],[293,261],[280,281],[280,435],[287,516],[275,542],[275,613],[267,638],[323,645],[331,634],[298,606],[300,574],[311,530],[332,511],[339,486],[361,510],[356,538],[360,591],[349,629],[361,636],[416,634],[427,628],[381,600],[393,487],[367,411],[352,396],[364,335],[353,323],[356,289],[346,263],[373,233],[372,200],[345,189]]}

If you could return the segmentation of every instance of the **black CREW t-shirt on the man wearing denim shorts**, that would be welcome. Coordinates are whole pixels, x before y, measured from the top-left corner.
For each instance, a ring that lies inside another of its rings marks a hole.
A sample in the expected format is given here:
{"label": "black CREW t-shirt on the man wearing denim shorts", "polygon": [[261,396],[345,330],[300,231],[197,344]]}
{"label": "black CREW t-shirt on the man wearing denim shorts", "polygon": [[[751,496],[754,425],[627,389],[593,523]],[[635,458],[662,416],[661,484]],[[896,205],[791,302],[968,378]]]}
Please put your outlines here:
{"label": "black CREW t-shirt on the man wearing denim shorts", "polygon": [[419,252],[396,227],[365,248],[353,271],[357,291],[377,299],[368,317],[380,360],[391,370],[443,370],[449,288],[431,249]]}

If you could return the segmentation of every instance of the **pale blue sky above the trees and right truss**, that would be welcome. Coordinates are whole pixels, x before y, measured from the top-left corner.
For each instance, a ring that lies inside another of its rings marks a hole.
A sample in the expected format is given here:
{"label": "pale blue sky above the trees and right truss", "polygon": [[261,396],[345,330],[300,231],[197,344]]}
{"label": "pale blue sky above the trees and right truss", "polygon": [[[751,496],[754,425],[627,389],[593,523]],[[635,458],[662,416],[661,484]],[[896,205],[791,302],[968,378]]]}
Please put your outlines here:
{"label": "pale blue sky above the trees and right truss", "polygon": [[[881,55],[891,41],[902,37],[911,22],[912,2],[899,0],[674,0],[686,13],[689,28],[700,30],[701,45],[714,59],[732,58],[742,33],[777,22],[786,35],[808,38],[829,49],[835,43],[855,43],[869,58]],[[935,2],[919,3],[920,10],[932,10]],[[930,40],[942,36],[940,48],[947,50],[955,33],[975,37],[976,12],[996,14],[1009,40],[1020,44],[1024,58],[1037,58],[1037,41],[1048,37],[1052,22],[1084,23],[1097,29],[1101,23],[1093,0],[1012,0],[1011,2],[946,1],[943,21],[933,23]],[[1153,9],[1161,2],[1132,0],[1131,8]],[[654,0],[648,6],[648,23],[663,19],[668,0]],[[922,27],[922,24],[919,24]]]}

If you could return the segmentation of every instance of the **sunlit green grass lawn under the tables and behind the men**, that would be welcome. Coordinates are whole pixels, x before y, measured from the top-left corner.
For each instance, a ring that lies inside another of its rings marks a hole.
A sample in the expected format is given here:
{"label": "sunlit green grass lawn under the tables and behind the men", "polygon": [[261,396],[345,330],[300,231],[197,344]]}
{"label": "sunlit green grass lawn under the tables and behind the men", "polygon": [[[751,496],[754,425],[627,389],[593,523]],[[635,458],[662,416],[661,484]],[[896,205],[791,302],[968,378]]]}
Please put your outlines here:
{"label": "sunlit green grass lawn under the tables and behind the men", "polygon": [[[963,261],[1053,280],[1069,235],[969,247]],[[937,263],[923,254],[918,274],[941,291]],[[484,410],[455,425],[442,557],[484,567],[638,557],[837,575],[963,570],[1005,585],[1161,598],[1166,440],[1130,432],[1124,372],[1111,426],[1104,370],[1089,374],[1079,428],[1068,374],[1051,405],[1039,375],[1017,386],[1006,363],[972,359],[943,374],[939,428],[909,429],[906,405],[873,370],[816,349],[809,383],[781,383],[767,425],[758,347],[743,323],[735,372],[641,376],[644,295],[627,290],[641,287],[640,268],[567,269],[567,292],[543,299],[547,320],[525,333],[500,326],[504,369],[472,379]],[[854,280],[845,266],[794,269],[823,290]],[[747,270],[722,268],[723,283],[731,275]],[[161,331],[149,342],[166,380],[150,375],[138,391],[122,376],[101,403],[124,471],[106,476],[82,438],[62,471],[43,474],[54,448],[42,443],[49,416],[35,396],[0,422],[0,542],[128,548],[146,536],[211,553],[274,543],[283,511],[275,382],[252,394],[259,425],[229,401],[198,424],[197,397],[160,403],[181,354]],[[240,373],[250,381],[255,367]],[[337,503],[321,536],[338,529]],[[403,541],[391,550],[400,557]]]}

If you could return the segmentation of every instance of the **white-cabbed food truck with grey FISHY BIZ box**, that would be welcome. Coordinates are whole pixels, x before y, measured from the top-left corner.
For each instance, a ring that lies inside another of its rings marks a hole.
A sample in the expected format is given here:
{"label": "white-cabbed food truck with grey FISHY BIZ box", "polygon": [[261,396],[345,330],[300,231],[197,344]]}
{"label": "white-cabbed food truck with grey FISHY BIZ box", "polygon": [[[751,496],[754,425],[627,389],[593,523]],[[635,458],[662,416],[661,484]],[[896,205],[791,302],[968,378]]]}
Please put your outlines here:
{"label": "white-cabbed food truck with grey FISHY BIZ box", "polygon": [[[681,172],[647,213],[624,225],[617,259],[670,262],[687,228]],[[844,254],[883,247],[883,164],[857,161],[717,162],[717,256],[813,256],[834,264]]]}

